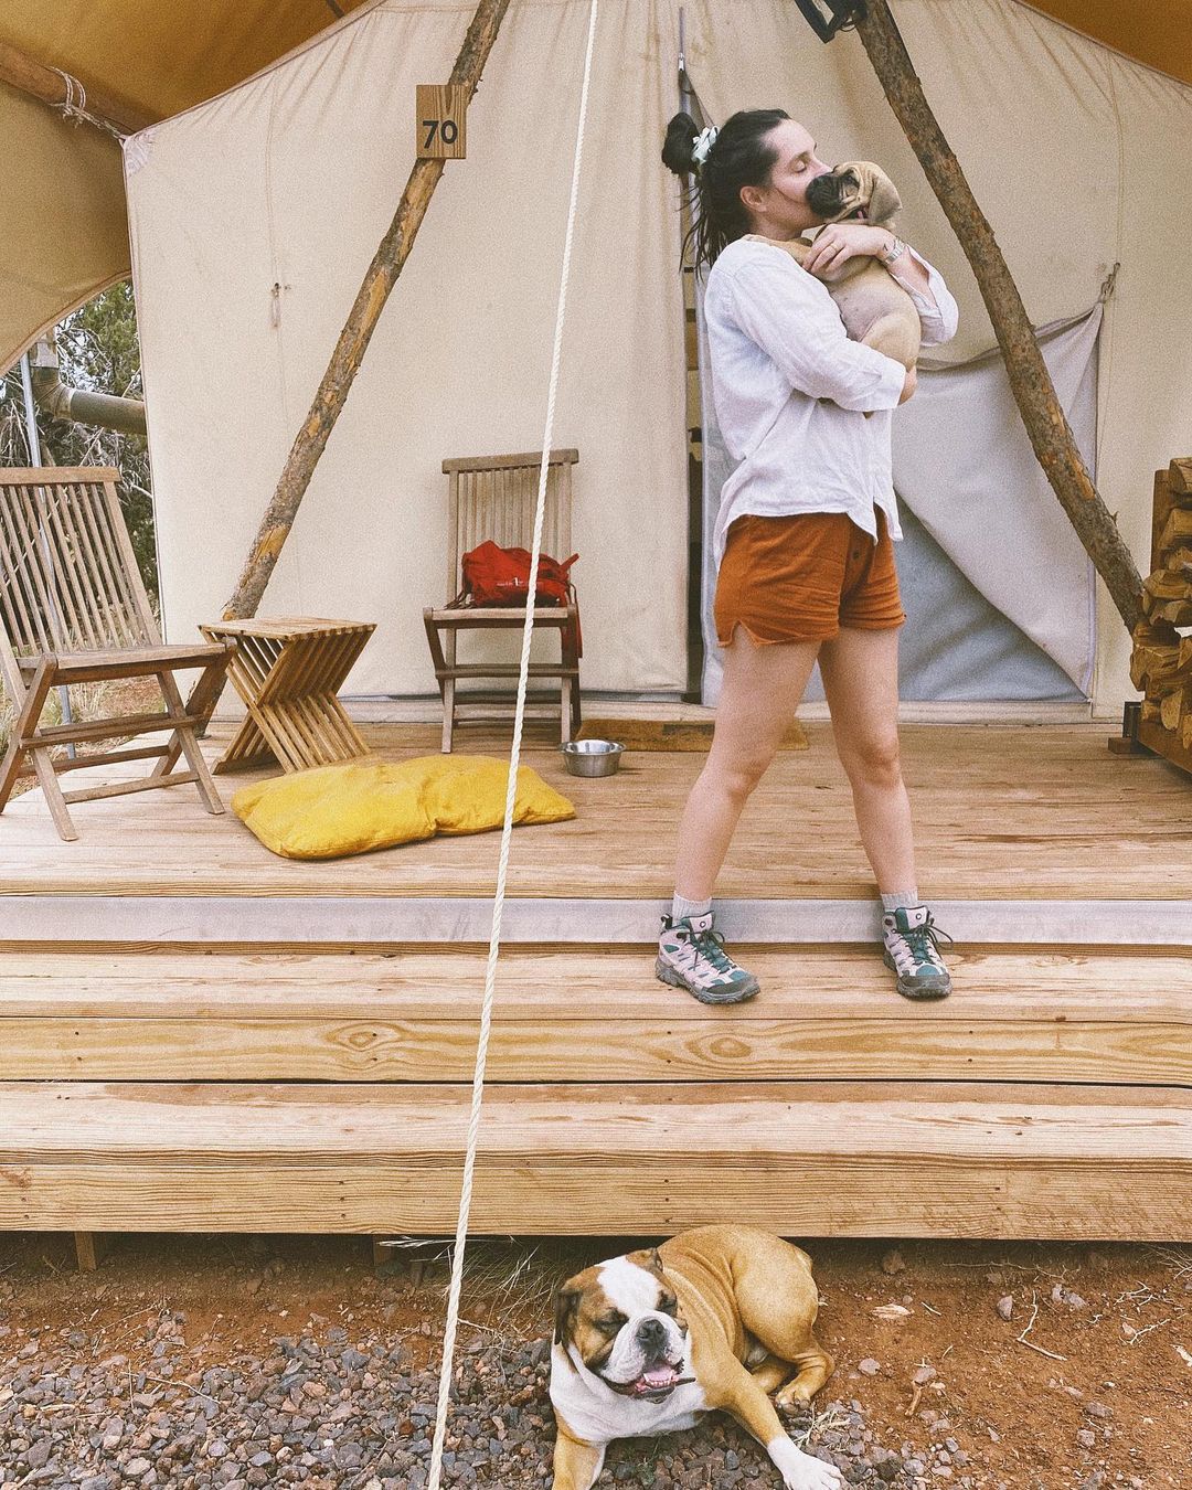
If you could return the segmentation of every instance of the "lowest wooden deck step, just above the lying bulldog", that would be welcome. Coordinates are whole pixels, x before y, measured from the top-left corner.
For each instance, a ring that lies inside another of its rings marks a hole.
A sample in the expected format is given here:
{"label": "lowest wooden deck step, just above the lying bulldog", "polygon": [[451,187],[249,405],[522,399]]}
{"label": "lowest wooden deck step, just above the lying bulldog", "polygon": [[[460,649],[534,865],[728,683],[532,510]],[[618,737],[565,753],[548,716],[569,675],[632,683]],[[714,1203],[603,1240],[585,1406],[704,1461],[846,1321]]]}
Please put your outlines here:
{"label": "lowest wooden deck step, just above the lying bulldog", "polygon": [[[0,1228],[450,1232],[466,1085],[0,1083]],[[1129,1176],[1123,1192],[1123,1174]],[[1128,1204],[1123,1204],[1128,1193]],[[1186,1094],[495,1086],[471,1229],[1177,1240]]]}

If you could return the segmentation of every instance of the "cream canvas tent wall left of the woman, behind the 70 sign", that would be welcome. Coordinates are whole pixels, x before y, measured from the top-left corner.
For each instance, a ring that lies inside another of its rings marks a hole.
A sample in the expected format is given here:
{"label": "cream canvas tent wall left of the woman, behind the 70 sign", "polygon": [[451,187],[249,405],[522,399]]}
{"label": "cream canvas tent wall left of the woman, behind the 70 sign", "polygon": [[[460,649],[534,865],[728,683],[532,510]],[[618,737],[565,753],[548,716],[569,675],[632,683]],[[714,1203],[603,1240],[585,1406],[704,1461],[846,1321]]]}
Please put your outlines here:
{"label": "cream canvas tent wall left of the woman, behind the 70 sign", "polygon": [[[448,74],[471,10],[381,3],[128,146],[171,638],[232,590],[413,162],[414,85]],[[587,18],[508,12],[468,159],[447,165],[265,595],[262,614],[380,623],[349,693],[434,690],[443,459],[541,446]],[[554,422],[580,450],[590,688],[685,679],[682,305],[654,145],[672,36],[665,4],[600,6]]]}

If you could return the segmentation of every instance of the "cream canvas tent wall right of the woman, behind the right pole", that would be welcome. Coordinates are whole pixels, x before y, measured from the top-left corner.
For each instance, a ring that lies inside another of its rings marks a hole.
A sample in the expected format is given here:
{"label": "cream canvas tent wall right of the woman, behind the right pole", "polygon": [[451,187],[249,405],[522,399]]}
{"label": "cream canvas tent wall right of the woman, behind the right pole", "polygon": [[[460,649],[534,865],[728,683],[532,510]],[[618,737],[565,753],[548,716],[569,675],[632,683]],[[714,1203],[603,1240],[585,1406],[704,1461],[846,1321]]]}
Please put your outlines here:
{"label": "cream canvas tent wall right of the woman, behind the right pole", "polygon": [[[1098,486],[1147,569],[1152,471],[1188,444],[1192,362],[1192,88],[1088,42],[1013,0],[894,0],[924,91],[994,226],[1036,326],[1083,314],[1115,264],[1098,368]],[[687,7],[687,58],[712,119],[773,104],[825,159],[881,161],[901,231],[960,301],[957,362],[994,344],[976,282],[858,39],[830,46],[785,0]],[[964,459],[955,450],[957,460]],[[1134,697],[1129,636],[1098,581],[1094,709]]]}

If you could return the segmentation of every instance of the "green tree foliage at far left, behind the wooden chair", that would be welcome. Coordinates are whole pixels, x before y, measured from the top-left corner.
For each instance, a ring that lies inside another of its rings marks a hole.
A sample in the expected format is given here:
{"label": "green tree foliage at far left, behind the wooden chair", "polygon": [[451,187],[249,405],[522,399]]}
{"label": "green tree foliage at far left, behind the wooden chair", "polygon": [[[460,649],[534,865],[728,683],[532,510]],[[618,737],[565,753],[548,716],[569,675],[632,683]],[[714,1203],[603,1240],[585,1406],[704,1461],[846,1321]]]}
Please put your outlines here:
{"label": "green tree foliage at far left, behind the wooden chair", "polygon": [[[140,343],[133,286],[113,285],[60,322],[54,332],[63,381],[92,393],[143,398]],[[37,435],[46,465],[110,465],[121,472],[119,498],[145,587],[156,606],[158,565],[149,450],[137,435],[51,420],[37,410]],[[28,465],[19,364],[0,381],[0,463]]]}

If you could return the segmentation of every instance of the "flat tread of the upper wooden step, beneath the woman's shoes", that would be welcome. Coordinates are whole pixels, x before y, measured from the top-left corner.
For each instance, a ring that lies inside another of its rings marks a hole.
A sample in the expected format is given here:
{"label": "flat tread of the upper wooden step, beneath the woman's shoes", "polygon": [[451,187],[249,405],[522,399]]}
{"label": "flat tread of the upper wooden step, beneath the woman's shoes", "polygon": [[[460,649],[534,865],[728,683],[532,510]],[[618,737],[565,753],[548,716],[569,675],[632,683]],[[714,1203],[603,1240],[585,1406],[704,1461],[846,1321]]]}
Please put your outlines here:
{"label": "flat tread of the upper wooden step, beneath the woman's shoes", "polygon": [[[727,1028],[800,1015],[869,1019],[881,1016],[875,1007],[881,1000],[913,1024],[1192,1021],[1186,952],[958,948],[949,963],[963,997],[925,1006],[890,1000],[893,979],[876,948],[739,951],[757,968],[763,992],[745,1004],[711,1009],[657,983],[645,946],[507,946],[498,963],[495,1013],[510,1021],[550,1015],[581,1022],[711,1018]],[[198,952],[140,945],[48,952],[0,943],[0,1018],[472,1019],[486,963],[483,948]],[[1027,986],[1030,998],[1022,994]]]}

